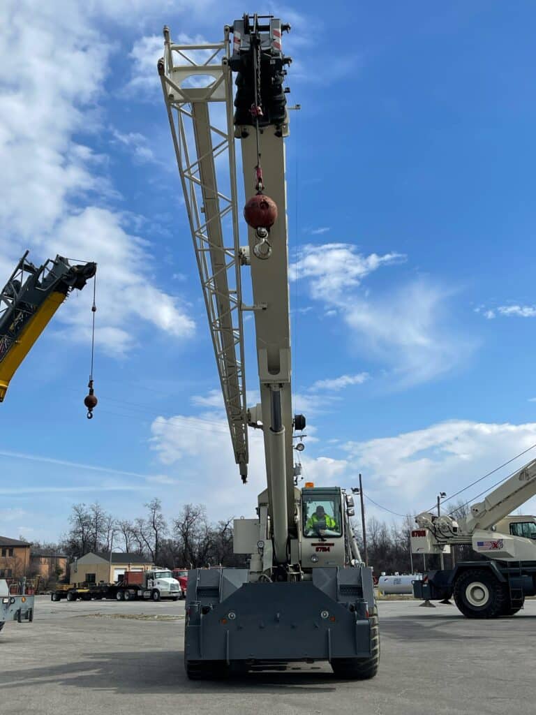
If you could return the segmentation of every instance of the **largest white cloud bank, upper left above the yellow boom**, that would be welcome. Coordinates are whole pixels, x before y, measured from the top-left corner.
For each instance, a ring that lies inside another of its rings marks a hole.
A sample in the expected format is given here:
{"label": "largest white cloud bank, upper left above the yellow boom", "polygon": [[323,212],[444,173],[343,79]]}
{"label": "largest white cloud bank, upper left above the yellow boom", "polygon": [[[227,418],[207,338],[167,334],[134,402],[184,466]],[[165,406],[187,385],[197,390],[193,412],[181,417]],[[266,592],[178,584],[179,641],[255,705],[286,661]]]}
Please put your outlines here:
{"label": "largest white cloud bank, upper left above the yellow boom", "polygon": [[[149,4],[138,1],[134,10],[142,6]],[[177,297],[154,285],[150,246],[126,231],[126,214],[99,205],[117,197],[101,173],[106,157],[75,139],[101,128],[112,46],[91,15],[100,10],[96,1],[0,6],[0,270],[9,275],[26,247],[34,262],[56,252],[99,262],[97,337],[102,350],[123,354],[137,342],[140,318],[180,339],[194,322]],[[141,135],[116,139],[150,158]],[[86,292],[59,312],[69,340],[88,341]]]}

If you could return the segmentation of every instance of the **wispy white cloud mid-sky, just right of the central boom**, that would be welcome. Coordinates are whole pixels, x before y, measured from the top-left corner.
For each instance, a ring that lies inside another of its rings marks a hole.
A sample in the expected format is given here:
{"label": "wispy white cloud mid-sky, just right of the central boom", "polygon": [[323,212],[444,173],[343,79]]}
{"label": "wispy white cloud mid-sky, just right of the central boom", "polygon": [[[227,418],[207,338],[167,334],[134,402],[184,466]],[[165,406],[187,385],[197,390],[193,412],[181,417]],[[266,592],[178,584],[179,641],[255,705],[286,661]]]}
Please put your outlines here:
{"label": "wispy white cloud mid-sky, just right of the central boom", "polygon": [[[365,256],[342,243],[305,246],[294,268],[309,280],[311,297],[339,315],[370,355],[389,365],[397,385],[425,382],[467,360],[475,341],[454,335],[445,310],[452,290],[415,280],[380,297],[359,291],[379,267],[405,261],[399,253]],[[294,275],[291,272],[291,275]]]}

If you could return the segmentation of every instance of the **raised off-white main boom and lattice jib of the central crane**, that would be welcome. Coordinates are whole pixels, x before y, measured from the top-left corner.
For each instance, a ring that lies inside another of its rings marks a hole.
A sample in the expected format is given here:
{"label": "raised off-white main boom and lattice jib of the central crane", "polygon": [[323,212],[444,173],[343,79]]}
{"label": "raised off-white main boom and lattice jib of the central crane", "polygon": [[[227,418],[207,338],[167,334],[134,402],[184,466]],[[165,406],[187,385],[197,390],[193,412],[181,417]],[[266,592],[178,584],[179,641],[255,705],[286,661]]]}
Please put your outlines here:
{"label": "raised off-white main boom and lattice jib of the central crane", "polygon": [[[288,134],[288,119],[282,88],[283,99],[272,96],[262,99],[265,106],[262,133],[257,133],[249,113],[248,88],[242,94],[240,90],[237,92],[237,114],[234,117],[232,69],[237,73],[251,69],[248,61],[253,33],[250,34],[249,21],[247,26],[245,20],[235,22],[231,51],[231,31],[231,28],[225,28],[222,44],[186,46],[172,43],[169,30],[165,28],[166,49],[164,59],[159,63],[159,74],[204,290],[234,457],[245,481],[247,424],[262,427],[274,554],[279,563],[286,563],[289,533],[295,532],[296,528],[283,144]],[[277,19],[271,18],[266,24],[259,25],[255,34],[260,38],[259,79],[261,53],[263,61],[269,56],[271,62],[273,56],[274,62],[278,63],[279,76],[284,75],[281,34],[282,24]],[[263,77],[265,71],[263,66]],[[210,75],[214,82],[209,87],[197,87],[195,80],[201,74]],[[247,106],[240,107],[241,102],[246,102]],[[271,102],[277,105],[280,113],[274,122],[267,117]],[[223,105],[224,113],[218,112],[218,104]],[[240,138],[242,147],[246,200],[258,193],[255,172],[259,157],[262,157],[264,185],[277,205],[278,215],[269,227],[269,240],[262,240],[259,232],[249,227],[247,248],[239,247],[234,135]],[[217,171],[222,154],[227,155],[225,172]],[[266,254],[258,250],[261,244],[267,250]],[[251,267],[251,306],[242,302],[240,265]],[[244,310],[254,312],[261,396],[260,407],[249,412],[245,403]]]}

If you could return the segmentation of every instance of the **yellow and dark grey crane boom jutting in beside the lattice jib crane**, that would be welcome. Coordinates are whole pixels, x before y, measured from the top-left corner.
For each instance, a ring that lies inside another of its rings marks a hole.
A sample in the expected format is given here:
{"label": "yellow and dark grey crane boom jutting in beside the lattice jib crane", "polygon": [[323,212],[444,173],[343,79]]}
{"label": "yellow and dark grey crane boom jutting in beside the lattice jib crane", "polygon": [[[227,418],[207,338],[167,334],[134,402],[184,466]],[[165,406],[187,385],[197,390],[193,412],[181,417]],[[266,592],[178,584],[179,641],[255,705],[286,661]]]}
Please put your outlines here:
{"label": "yellow and dark grey crane boom jutting in beside the lattice jib crane", "polygon": [[96,272],[95,263],[71,265],[62,256],[36,267],[27,255],[28,251],[0,292],[0,402],[17,368],[69,292],[81,290]]}

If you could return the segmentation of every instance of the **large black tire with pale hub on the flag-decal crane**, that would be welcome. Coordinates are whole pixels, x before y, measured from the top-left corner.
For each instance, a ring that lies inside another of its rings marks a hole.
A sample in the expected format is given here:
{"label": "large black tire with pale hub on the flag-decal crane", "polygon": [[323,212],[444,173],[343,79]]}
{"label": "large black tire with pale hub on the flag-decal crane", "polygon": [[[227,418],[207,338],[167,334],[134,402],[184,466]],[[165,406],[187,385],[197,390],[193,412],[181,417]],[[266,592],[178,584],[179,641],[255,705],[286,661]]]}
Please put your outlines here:
{"label": "large black tire with pale hub on the flag-decal crane", "polygon": [[508,608],[505,584],[484,568],[464,571],[458,576],[454,600],[466,618],[498,618]]}

